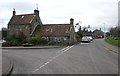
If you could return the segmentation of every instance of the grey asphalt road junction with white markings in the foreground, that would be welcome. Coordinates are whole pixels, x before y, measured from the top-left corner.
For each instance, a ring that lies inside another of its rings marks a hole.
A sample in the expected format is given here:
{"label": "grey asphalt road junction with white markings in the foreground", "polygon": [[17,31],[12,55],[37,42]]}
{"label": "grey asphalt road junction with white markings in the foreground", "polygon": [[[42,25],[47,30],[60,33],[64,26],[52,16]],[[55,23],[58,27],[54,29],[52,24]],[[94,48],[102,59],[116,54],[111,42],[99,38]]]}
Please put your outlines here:
{"label": "grey asphalt road junction with white markings in the foreground", "polygon": [[63,48],[2,49],[2,55],[14,61],[12,74],[118,74],[118,54],[105,45],[94,40]]}

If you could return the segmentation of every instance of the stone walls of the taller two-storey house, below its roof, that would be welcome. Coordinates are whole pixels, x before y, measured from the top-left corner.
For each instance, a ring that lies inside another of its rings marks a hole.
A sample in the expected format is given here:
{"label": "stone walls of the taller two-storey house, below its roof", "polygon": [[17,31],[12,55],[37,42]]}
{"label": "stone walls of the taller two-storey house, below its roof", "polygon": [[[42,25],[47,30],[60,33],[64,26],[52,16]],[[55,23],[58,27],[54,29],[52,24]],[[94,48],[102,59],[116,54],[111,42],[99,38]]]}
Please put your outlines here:
{"label": "stone walls of the taller two-storey house, below its roof", "polygon": [[18,34],[19,32],[23,32],[28,38],[32,35],[37,25],[42,25],[42,22],[39,16],[35,16],[31,24],[23,24],[23,25],[8,25],[8,34]]}

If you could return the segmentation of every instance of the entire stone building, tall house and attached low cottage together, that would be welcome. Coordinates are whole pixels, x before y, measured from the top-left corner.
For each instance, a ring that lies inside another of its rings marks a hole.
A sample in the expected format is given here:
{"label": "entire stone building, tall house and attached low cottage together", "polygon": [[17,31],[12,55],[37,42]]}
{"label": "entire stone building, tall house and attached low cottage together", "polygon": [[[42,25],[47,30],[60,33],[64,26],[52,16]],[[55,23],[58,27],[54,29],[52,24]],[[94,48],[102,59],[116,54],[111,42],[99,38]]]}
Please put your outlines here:
{"label": "entire stone building, tall house and attached low cottage together", "polygon": [[68,24],[42,24],[39,17],[39,10],[34,10],[33,14],[16,15],[15,9],[13,16],[8,23],[8,34],[18,35],[23,32],[27,38],[39,35],[46,40],[64,42],[66,44],[76,43],[74,19],[70,19]]}

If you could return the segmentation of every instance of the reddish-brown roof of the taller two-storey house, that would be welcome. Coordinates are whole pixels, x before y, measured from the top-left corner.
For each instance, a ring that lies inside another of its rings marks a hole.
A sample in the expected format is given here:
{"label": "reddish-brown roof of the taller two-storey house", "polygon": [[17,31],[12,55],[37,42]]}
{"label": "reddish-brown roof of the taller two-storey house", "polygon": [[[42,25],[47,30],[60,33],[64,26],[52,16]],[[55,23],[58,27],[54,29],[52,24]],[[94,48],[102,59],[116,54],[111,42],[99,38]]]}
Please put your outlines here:
{"label": "reddish-brown roof of the taller two-storey house", "polygon": [[12,16],[8,24],[30,24],[34,19],[34,14],[21,14]]}

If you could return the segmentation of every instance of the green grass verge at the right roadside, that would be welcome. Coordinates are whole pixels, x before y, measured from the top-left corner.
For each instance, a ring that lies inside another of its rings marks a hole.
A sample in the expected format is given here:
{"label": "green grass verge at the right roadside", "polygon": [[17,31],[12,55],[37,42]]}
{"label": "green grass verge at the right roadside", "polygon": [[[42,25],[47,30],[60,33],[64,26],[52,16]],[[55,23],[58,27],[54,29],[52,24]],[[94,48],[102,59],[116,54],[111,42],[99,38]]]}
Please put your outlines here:
{"label": "green grass verge at the right roadside", "polygon": [[108,37],[105,41],[111,45],[120,47],[120,37]]}

